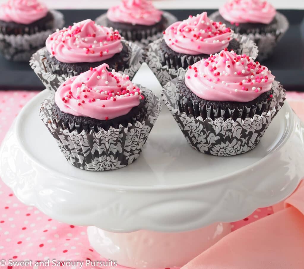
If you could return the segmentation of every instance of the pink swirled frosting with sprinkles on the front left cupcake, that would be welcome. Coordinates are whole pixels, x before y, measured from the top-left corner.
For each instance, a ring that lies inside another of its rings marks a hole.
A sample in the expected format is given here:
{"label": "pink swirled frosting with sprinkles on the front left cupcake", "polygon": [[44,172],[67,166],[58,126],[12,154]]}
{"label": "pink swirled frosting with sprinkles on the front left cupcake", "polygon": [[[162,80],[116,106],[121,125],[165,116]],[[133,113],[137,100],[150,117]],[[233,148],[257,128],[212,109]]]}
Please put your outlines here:
{"label": "pink swirled frosting with sprinkles on the front left cupcake", "polygon": [[108,71],[109,65],[96,68],[67,79],[55,94],[55,102],[62,112],[74,116],[107,120],[126,115],[143,99],[142,91],[126,74]]}

